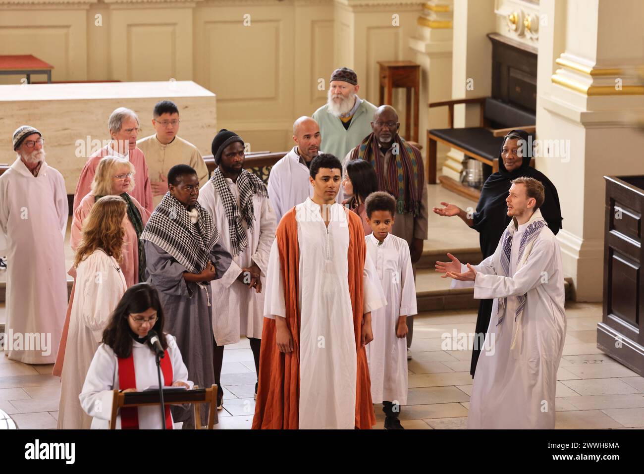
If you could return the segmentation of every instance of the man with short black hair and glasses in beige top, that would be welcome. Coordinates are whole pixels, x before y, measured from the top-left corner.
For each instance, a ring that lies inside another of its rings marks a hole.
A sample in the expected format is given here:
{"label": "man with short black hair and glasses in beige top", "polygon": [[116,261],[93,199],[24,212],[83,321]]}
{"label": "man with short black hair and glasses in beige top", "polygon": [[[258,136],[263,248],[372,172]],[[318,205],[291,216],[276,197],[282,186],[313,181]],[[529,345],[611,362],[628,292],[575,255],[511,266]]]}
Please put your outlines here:
{"label": "man with short black hair and glasses in beige top", "polygon": [[137,142],[146,155],[147,170],[152,185],[152,200],[156,207],[167,193],[167,172],[175,165],[188,165],[197,172],[199,185],[208,180],[208,168],[196,146],[177,137],[181,120],[175,102],[162,100],[152,111],[152,126],[156,133]]}

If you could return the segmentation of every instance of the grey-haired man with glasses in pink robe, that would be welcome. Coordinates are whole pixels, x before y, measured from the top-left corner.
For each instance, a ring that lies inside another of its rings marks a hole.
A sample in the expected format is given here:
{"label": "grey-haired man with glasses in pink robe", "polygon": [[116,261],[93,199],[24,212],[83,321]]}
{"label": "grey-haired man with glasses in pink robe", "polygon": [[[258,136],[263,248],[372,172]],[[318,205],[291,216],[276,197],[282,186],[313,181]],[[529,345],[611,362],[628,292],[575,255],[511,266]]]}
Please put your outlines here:
{"label": "grey-haired man with glasses in pink robe", "polygon": [[108,128],[111,141],[108,145],[93,153],[81,171],[81,177],[74,193],[73,211],[79,207],[82,198],[90,193],[96,168],[99,166],[100,160],[105,156],[116,156],[133,164],[136,170],[134,176],[135,185],[129,191],[129,194],[147,211],[154,211],[155,206],[152,202],[152,187],[148,177],[146,157],[137,148],[137,135],[141,131],[137,114],[130,109],[119,107],[109,115]]}

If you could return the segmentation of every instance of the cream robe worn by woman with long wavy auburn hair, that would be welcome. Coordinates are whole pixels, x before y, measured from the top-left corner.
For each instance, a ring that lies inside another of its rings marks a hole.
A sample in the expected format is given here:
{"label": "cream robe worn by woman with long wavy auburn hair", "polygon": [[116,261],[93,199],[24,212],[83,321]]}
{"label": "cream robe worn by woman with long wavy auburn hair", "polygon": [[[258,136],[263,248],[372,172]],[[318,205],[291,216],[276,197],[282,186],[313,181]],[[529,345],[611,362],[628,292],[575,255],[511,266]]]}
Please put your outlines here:
{"label": "cream robe worn by woman with long wavy auburn hair", "polygon": [[[118,270],[117,270],[118,268]],[[91,418],[83,412],[79,393],[111,312],[128,289],[114,257],[97,249],[76,269],[70,329],[61,374],[58,429],[88,430]]]}

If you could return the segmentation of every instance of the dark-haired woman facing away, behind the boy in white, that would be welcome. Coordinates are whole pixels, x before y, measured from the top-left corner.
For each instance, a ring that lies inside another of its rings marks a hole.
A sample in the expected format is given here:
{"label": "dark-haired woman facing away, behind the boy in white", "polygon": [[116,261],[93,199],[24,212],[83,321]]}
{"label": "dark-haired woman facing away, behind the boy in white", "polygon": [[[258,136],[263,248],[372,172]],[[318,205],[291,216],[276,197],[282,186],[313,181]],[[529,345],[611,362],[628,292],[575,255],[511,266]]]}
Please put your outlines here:
{"label": "dark-haired woman facing away, behind the boy in white", "polygon": [[371,226],[366,222],[365,200],[371,193],[378,191],[378,176],[374,167],[365,160],[349,160],[342,180],[345,199],[342,204],[358,214],[365,228],[365,235],[371,233]]}

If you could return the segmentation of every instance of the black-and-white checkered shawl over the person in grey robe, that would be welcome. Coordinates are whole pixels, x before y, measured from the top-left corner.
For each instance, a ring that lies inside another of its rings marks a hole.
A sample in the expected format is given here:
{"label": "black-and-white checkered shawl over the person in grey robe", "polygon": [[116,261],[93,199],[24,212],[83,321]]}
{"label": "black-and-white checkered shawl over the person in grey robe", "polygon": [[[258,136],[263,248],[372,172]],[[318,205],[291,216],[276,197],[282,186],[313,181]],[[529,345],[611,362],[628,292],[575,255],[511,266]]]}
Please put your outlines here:
{"label": "black-and-white checkered shawl over the person in grey robe", "polygon": [[169,192],[147,220],[141,240],[149,240],[173,256],[191,273],[200,273],[210,260],[210,251],[219,238],[213,216],[199,203],[196,223],[185,206]]}

